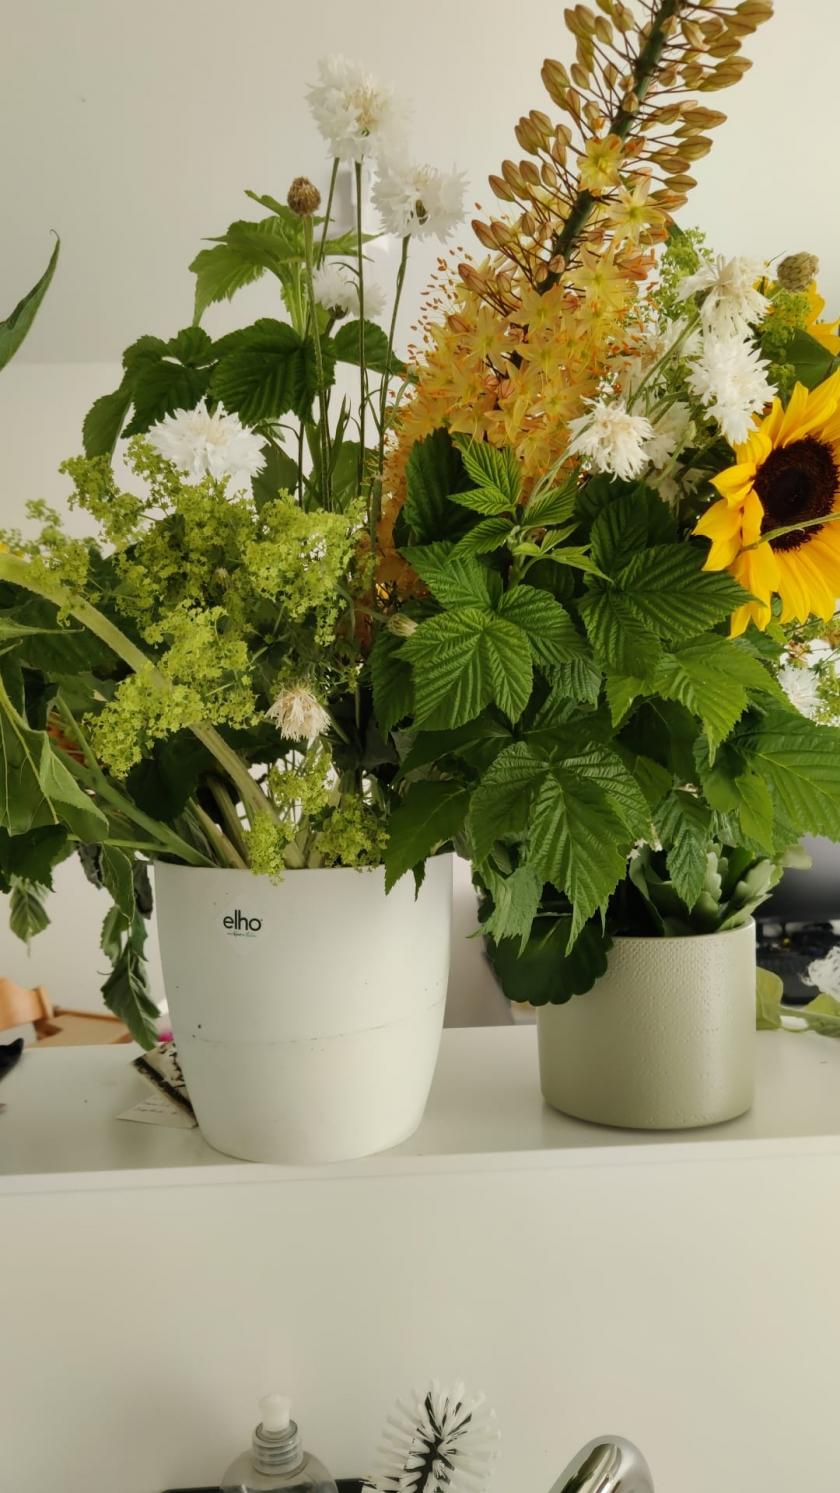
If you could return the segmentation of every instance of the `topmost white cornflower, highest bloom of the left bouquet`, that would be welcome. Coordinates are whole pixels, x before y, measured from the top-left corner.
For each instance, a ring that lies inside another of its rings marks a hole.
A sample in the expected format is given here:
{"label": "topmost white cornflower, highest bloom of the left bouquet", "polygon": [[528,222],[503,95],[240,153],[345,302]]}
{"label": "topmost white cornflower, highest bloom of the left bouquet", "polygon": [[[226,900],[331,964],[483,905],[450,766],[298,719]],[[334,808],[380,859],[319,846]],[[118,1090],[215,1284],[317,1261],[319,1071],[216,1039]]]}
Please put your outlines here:
{"label": "topmost white cornflower, highest bloom of the left bouquet", "polygon": [[327,57],[318,64],[318,82],[307,99],[330,154],[340,161],[363,161],[391,148],[401,134],[394,90],[346,57]]}

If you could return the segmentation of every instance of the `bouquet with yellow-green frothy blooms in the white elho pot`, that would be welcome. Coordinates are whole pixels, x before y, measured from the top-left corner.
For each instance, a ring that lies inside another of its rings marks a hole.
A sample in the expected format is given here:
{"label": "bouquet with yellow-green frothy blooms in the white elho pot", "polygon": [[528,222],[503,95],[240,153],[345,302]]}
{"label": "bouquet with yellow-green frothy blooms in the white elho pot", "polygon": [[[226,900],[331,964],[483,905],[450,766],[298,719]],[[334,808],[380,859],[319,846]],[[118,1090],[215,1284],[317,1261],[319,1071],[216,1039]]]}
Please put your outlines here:
{"label": "bouquet with yellow-green frothy blooms in the white elho pot", "polygon": [[[333,158],[324,212],[303,176],[285,202],[249,193],[264,215],[192,261],[191,325],[125,349],[85,454],[63,466],[93,536],[70,537],[42,502],[34,537],[0,534],[0,890],[28,941],[52,867],[81,854],[112,899],[103,994],[143,1045],[149,860],[272,878],[374,866],[394,799],[367,654],[386,437],[409,381],[397,311],[412,240],[452,231],[463,181],[406,164],[392,93],[355,64],[324,63],[309,102]],[[372,169],[379,227],[400,243],[386,317],[366,252]],[[339,231],[348,170],[355,222]],[[260,276],[278,318],[213,339],[207,308]]]}

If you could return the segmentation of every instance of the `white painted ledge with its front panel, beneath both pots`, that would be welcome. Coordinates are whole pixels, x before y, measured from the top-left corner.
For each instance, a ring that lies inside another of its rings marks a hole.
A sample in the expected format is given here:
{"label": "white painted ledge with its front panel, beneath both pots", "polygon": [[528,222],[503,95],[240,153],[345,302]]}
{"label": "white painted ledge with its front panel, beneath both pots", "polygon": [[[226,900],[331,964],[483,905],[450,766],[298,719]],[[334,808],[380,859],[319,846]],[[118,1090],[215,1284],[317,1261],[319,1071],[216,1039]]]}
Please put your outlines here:
{"label": "white painted ledge with its front panel, beneath both pots", "polygon": [[446,1033],[415,1142],[321,1172],[113,1120],[125,1051],[27,1057],[0,1118],[0,1166],[30,1172],[0,1196],[0,1486],[210,1483],[275,1387],[349,1475],[440,1374],[497,1406],[498,1493],[545,1493],[604,1429],[662,1493],[834,1493],[840,1048],[759,1035],[753,1115],[674,1141],[545,1111],[534,1044]]}

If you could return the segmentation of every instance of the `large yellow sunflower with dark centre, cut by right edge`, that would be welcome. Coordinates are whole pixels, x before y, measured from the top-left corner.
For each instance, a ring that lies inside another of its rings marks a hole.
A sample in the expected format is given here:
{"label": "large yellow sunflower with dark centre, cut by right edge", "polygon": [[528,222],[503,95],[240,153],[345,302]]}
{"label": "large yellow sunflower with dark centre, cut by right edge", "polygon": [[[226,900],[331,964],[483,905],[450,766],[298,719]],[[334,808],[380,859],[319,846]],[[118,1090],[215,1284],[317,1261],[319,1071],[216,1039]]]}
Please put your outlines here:
{"label": "large yellow sunflower with dark centre, cut by right edge", "polygon": [[[815,390],[797,384],[736,446],[736,464],[712,479],[721,500],[697,534],[712,540],[706,570],[731,570],[753,600],[733,614],[731,633],[767,627],[773,596],[782,621],[828,620],[840,596],[840,370]],[[827,520],[827,523],[821,523]],[[804,527],[789,527],[801,523]],[[773,539],[761,536],[785,529]]]}

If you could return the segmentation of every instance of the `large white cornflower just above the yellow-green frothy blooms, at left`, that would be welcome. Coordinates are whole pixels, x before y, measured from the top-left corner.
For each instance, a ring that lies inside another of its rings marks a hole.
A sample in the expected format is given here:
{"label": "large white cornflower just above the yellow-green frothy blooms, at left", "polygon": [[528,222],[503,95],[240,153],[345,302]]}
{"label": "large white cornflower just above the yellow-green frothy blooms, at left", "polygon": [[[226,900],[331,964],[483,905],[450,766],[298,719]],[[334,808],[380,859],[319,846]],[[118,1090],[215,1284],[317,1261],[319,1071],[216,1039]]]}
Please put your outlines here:
{"label": "large white cornflower just above the yellow-green frothy blooms, at left", "polygon": [[228,479],[231,491],[248,491],[251,478],[266,466],[263,437],[228,415],[224,405],[210,414],[206,400],[195,409],[176,409],[152,426],[146,440],[185,476]]}

